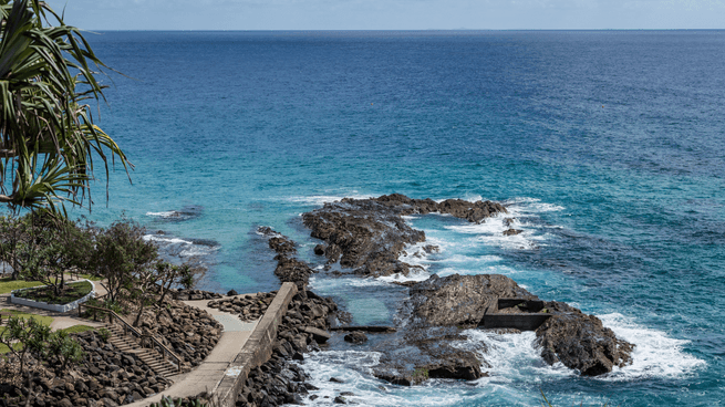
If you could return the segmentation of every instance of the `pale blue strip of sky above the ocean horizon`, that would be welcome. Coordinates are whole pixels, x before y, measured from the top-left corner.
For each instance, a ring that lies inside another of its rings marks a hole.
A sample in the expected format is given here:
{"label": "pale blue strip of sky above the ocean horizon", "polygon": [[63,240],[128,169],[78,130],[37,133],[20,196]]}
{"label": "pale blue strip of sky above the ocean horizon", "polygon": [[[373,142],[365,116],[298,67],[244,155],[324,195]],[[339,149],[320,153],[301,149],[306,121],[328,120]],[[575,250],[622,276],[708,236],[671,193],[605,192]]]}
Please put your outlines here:
{"label": "pale blue strip of sky above the ocean horizon", "polygon": [[725,0],[46,0],[87,30],[725,29]]}

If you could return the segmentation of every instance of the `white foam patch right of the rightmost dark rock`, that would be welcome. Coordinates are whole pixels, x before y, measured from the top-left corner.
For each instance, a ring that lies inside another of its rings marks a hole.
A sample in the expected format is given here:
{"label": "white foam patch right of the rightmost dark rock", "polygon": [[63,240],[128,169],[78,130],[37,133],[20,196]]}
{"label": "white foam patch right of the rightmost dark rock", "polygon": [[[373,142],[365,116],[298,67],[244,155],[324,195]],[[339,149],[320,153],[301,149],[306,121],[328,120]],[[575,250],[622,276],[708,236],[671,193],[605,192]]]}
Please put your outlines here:
{"label": "white foam patch right of the rightmost dark rock", "polygon": [[666,333],[639,325],[633,319],[619,313],[599,315],[604,326],[618,337],[634,345],[632,365],[615,367],[603,376],[610,380],[630,380],[646,377],[680,377],[703,368],[706,363],[683,351],[690,341],[669,337]]}

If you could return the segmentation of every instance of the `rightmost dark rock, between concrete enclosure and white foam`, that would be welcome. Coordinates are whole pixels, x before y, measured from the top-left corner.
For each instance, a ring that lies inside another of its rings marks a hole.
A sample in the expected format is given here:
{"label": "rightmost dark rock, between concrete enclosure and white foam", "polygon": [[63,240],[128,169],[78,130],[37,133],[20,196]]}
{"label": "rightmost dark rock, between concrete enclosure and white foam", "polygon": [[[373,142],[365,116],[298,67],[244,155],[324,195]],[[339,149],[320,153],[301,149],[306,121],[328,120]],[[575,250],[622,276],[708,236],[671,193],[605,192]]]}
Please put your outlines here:
{"label": "rightmost dark rock, between concrete enclosure and white foam", "polygon": [[561,302],[547,302],[553,314],[536,331],[541,356],[582,375],[597,376],[630,364],[634,345],[619,340],[601,320]]}

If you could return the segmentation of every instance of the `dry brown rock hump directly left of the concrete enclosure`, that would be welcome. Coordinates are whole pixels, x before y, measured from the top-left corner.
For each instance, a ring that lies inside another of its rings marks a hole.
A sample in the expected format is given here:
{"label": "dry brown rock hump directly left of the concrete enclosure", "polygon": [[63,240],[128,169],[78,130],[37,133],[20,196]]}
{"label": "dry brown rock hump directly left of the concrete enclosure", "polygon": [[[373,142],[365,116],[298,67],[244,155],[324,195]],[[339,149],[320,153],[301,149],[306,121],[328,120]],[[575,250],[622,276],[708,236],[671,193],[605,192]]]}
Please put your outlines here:
{"label": "dry brown rock hump directly left of the concrete enclosure", "polygon": [[434,274],[411,286],[414,322],[432,326],[476,326],[487,303],[498,298],[535,300],[536,295],[500,274]]}

